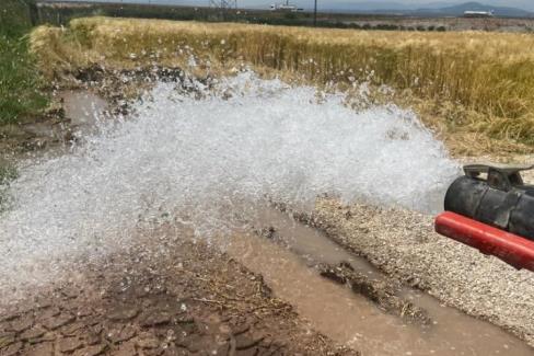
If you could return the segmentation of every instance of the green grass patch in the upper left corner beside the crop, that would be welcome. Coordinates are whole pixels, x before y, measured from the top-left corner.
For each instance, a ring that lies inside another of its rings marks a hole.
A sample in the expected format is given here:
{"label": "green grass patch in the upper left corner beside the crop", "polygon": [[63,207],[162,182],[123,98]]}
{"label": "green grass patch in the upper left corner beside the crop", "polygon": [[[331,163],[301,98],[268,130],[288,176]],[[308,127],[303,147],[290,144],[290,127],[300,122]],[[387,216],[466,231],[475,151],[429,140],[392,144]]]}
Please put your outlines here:
{"label": "green grass patch in the upper left corner beside the crop", "polygon": [[30,0],[0,3],[0,125],[39,115],[47,105],[40,74],[28,53],[32,30]]}

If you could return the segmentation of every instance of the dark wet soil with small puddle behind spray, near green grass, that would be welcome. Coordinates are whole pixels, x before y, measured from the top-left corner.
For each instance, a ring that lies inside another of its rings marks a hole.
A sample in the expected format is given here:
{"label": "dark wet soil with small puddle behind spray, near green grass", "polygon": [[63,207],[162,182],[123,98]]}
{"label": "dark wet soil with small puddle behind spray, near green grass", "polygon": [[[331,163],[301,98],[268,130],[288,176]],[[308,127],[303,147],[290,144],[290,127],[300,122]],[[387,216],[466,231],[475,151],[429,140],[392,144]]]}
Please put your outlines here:
{"label": "dark wet soil with small puddle behind spray, near green grass", "polygon": [[160,67],[109,71],[93,66],[67,73],[47,89],[50,104],[43,115],[0,126],[0,160],[69,147],[94,131],[97,120],[128,114],[129,101],[137,100],[154,82],[184,80],[181,69]]}

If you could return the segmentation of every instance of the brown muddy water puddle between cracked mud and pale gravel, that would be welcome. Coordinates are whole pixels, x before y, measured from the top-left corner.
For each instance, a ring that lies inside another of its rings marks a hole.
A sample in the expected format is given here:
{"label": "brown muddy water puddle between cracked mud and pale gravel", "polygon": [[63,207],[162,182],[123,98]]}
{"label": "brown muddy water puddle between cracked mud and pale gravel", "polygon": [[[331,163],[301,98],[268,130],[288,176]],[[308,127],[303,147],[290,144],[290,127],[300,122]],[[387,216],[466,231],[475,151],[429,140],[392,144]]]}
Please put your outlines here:
{"label": "brown muddy water puddle between cracked mud and pale gravel", "polygon": [[403,291],[427,311],[430,324],[423,325],[386,313],[363,296],[321,277],[310,267],[348,262],[373,279],[384,278],[364,259],[348,253],[320,231],[283,213],[262,209],[255,228],[276,231],[282,243],[252,233],[235,234],[228,252],[260,273],[275,295],[293,305],[311,328],[363,355],[533,354],[532,348],[513,335],[444,307],[428,295]]}

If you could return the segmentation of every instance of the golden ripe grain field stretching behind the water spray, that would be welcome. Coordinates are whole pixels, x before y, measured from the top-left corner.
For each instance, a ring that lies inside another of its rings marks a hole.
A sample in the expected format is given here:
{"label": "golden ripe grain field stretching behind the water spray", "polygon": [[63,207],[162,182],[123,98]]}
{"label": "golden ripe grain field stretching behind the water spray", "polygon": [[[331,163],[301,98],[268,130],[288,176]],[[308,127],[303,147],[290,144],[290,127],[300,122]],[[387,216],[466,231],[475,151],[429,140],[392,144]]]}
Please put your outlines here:
{"label": "golden ripe grain field stretching behind the water spray", "polygon": [[68,28],[38,27],[31,42],[49,79],[94,64],[111,69],[184,67],[191,56],[198,68],[213,72],[249,64],[320,85],[390,85],[399,102],[409,99],[423,122],[445,140],[455,140],[460,151],[534,148],[530,34],[91,18],[74,20]]}

